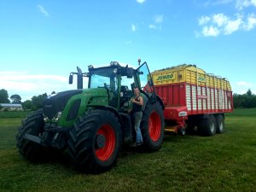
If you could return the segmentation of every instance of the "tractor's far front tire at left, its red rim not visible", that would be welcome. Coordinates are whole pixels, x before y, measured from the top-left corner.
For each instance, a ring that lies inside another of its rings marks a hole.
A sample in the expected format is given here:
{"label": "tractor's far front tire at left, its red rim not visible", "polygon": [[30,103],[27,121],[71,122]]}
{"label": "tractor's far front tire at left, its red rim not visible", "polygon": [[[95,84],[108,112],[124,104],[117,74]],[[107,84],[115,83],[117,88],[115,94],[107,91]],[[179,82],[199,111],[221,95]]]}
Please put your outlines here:
{"label": "tractor's far front tire at left, its red rim not visible", "polygon": [[18,135],[16,136],[17,148],[20,154],[33,163],[44,162],[49,160],[48,148],[44,148],[38,143],[34,143],[26,140],[24,135],[26,133],[33,136],[39,136],[44,130],[44,117],[42,110],[38,110],[35,113],[27,116],[27,118],[22,121],[22,125],[18,129]]}

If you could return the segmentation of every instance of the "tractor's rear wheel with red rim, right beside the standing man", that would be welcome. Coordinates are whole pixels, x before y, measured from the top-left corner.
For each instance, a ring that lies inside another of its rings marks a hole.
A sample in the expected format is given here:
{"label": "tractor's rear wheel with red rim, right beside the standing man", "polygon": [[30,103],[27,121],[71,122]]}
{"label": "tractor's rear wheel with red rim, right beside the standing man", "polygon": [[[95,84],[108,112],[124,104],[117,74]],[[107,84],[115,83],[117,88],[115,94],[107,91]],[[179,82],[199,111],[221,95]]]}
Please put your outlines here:
{"label": "tractor's rear wheel with red rim, right beside the standing man", "polygon": [[163,109],[159,102],[155,102],[154,104],[147,103],[143,111],[141,130],[144,148],[148,151],[158,150],[161,143],[163,143],[165,131]]}

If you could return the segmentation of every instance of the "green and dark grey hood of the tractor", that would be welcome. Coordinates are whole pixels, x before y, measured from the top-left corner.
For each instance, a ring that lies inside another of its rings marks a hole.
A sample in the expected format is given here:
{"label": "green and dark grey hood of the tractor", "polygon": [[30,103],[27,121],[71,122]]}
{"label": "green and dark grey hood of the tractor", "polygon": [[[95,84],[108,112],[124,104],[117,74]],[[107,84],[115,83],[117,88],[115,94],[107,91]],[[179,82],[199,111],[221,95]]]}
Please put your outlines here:
{"label": "green and dark grey hood of the tractor", "polygon": [[90,106],[108,105],[109,97],[112,96],[106,88],[63,91],[44,100],[44,118],[72,125]]}

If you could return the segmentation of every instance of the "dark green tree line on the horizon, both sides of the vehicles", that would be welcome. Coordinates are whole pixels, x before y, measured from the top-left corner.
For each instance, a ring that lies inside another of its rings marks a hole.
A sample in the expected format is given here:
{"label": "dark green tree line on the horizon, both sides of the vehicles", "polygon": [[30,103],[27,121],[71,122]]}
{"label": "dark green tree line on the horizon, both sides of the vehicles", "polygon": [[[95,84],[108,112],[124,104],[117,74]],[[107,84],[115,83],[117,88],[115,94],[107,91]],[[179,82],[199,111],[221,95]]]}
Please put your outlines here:
{"label": "dark green tree line on the horizon, both sides of the vehicles", "polygon": [[[55,92],[52,92],[52,94]],[[47,97],[44,93],[38,96],[32,96],[31,100],[21,102],[21,97],[17,94],[9,97],[7,90],[0,90],[0,103],[20,103],[24,110],[37,110],[42,107],[42,102]],[[10,100],[9,100],[10,98]],[[249,89],[245,94],[233,94],[234,108],[256,108],[256,95]],[[1,107],[0,107],[1,108]]]}

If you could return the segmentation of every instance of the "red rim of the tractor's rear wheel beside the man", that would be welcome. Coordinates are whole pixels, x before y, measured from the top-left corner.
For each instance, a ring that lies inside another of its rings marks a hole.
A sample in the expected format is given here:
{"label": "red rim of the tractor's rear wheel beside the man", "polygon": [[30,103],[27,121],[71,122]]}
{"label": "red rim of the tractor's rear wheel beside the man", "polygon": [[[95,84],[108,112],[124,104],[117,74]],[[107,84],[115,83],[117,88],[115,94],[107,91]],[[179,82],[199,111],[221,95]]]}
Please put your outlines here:
{"label": "red rim of the tractor's rear wheel beside the man", "polygon": [[161,121],[160,116],[158,113],[153,112],[150,114],[149,120],[148,120],[148,131],[149,131],[149,137],[153,142],[157,142],[160,138],[160,132],[161,132]]}

